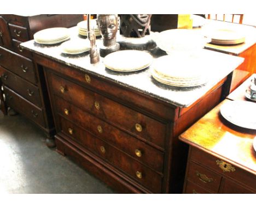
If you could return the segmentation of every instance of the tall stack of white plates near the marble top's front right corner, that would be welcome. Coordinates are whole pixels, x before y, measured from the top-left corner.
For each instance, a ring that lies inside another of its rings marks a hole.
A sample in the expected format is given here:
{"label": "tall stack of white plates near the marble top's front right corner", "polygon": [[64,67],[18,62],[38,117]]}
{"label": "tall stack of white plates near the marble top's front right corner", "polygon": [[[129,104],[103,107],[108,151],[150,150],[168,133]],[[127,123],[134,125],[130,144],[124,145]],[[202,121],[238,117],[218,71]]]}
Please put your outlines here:
{"label": "tall stack of white plates near the marble top's front right corner", "polygon": [[195,87],[207,81],[195,57],[162,56],[155,60],[151,72],[156,81],[176,87]]}

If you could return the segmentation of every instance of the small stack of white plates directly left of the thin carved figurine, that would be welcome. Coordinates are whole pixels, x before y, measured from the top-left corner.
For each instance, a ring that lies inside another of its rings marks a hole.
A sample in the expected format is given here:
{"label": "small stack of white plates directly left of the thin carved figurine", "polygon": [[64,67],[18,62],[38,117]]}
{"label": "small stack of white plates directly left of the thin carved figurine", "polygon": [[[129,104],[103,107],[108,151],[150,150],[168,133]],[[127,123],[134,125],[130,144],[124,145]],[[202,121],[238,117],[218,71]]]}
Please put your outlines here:
{"label": "small stack of white plates directly left of the thin carved figurine", "polygon": [[61,44],[62,53],[79,54],[90,50],[90,42],[88,39],[74,39],[63,42]]}

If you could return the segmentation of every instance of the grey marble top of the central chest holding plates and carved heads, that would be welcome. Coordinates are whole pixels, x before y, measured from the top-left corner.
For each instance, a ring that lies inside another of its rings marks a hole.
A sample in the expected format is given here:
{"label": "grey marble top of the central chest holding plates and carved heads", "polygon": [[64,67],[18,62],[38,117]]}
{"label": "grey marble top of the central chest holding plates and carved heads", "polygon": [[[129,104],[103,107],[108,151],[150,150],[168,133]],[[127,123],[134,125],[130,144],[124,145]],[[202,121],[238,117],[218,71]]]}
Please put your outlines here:
{"label": "grey marble top of the central chest holding plates and carved heads", "polygon": [[[70,28],[70,31],[71,39],[80,38],[77,27]],[[100,45],[102,40],[97,39],[96,42],[97,45]],[[40,45],[34,42],[34,40],[30,40],[23,42],[21,46],[41,56],[48,57],[85,72],[90,72],[98,77],[108,79],[178,107],[190,106],[243,62],[243,58],[204,49],[202,50],[200,62],[203,63],[205,70],[207,70],[208,82],[197,87],[181,88],[172,87],[156,81],[150,74],[150,67],[135,72],[116,72],[105,68],[102,57],[100,58],[100,62],[90,64],[89,52],[78,55],[63,54],[60,44]],[[154,59],[166,54],[158,47],[149,52]],[[196,66],[191,66],[191,70],[194,67]]]}

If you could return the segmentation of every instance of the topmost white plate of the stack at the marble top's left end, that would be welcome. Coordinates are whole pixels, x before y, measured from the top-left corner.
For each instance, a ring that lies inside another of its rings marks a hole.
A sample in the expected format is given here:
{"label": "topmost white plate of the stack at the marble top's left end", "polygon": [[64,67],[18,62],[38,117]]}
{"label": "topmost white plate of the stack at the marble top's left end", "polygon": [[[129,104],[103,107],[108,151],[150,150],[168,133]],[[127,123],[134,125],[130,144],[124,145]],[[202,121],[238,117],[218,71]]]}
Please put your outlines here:
{"label": "topmost white plate of the stack at the marble top's left end", "polygon": [[34,39],[38,41],[56,41],[69,36],[68,28],[54,27],[38,31],[34,34]]}

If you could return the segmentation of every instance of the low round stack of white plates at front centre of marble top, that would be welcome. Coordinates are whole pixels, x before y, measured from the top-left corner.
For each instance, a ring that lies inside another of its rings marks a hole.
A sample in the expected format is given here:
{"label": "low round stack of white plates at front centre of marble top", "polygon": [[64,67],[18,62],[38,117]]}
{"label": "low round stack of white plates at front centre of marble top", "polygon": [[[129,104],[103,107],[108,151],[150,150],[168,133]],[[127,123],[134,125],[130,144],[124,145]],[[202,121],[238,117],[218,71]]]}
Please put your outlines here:
{"label": "low round stack of white plates at front centre of marble top", "polygon": [[152,56],[144,51],[124,50],[108,54],[103,63],[108,69],[129,72],[147,68],[152,59]]}

